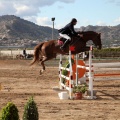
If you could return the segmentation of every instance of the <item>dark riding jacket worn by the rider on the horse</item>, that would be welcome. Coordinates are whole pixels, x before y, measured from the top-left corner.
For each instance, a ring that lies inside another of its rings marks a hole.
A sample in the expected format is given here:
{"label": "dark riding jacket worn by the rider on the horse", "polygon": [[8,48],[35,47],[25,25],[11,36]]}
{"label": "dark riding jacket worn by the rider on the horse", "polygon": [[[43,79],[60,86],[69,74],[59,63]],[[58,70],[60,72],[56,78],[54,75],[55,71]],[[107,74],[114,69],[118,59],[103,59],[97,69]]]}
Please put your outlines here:
{"label": "dark riding jacket worn by the rider on the horse", "polygon": [[77,36],[78,33],[74,30],[74,25],[72,23],[67,24],[64,28],[58,30],[61,34],[67,34],[68,36]]}

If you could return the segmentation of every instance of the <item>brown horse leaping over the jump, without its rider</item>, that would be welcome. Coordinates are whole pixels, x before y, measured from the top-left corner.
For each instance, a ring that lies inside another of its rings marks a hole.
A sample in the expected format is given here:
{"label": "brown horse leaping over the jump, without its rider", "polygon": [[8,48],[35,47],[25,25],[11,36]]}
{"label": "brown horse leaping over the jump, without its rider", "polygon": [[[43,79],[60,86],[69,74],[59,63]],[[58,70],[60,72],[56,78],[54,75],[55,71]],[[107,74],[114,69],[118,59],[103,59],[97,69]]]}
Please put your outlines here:
{"label": "brown horse leaping over the jump, without its rider", "polygon": [[[84,51],[89,51],[90,47],[86,46],[86,43],[89,40],[92,40],[94,45],[101,49],[101,34],[93,31],[79,32],[81,37],[72,37],[72,42],[70,46],[74,46],[75,50],[72,51],[72,54],[77,54]],[[33,65],[35,62],[39,62],[42,65],[42,70],[40,70],[40,74],[45,70],[44,62],[55,58],[57,54],[68,54],[69,46],[66,47],[64,51],[60,49],[60,45],[58,44],[58,40],[49,40],[47,42],[42,42],[35,47],[34,51],[34,59],[31,63]]]}

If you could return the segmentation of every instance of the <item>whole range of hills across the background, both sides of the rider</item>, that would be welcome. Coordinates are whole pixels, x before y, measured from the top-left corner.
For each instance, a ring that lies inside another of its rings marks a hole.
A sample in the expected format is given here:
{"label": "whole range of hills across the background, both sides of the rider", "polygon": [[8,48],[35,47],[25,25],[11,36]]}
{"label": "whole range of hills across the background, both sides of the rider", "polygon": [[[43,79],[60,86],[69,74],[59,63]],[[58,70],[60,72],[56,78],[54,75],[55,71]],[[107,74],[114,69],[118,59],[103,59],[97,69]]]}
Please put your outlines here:
{"label": "whole range of hills across the background, both sides of the rider", "polygon": [[[101,33],[103,47],[120,46],[120,25],[80,27],[80,31],[96,31]],[[54,29],[54,39],[58,37],[58,30]],[[52,28],[39,26],[14,15],[0,16],[0,46],[28,46],[38,42],[50,40]]]}

